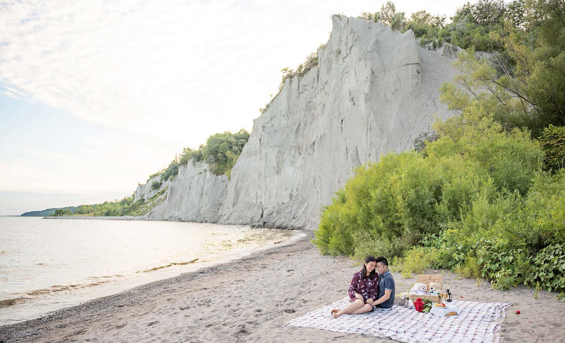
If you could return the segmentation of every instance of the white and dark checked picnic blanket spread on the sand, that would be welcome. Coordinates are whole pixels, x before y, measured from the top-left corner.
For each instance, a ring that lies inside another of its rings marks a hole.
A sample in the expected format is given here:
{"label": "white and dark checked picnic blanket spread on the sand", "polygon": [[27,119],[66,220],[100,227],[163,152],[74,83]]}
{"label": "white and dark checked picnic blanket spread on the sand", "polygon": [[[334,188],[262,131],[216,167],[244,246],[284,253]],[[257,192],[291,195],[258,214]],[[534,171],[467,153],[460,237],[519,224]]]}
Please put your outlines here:
{"label": "white and dark checked picnic blanket spread on the sand", "polygon": [[498,343],[500,323],[510,303],[456,301],[460,314],[448,317],[419,313],[394,305],[363,314],[344,314],[337,319],[329,313],[350,304],[344,298],[319,310],[292,319],[285,326],[310,327],[329,331],[388,337],[400,342],[485,342]]}

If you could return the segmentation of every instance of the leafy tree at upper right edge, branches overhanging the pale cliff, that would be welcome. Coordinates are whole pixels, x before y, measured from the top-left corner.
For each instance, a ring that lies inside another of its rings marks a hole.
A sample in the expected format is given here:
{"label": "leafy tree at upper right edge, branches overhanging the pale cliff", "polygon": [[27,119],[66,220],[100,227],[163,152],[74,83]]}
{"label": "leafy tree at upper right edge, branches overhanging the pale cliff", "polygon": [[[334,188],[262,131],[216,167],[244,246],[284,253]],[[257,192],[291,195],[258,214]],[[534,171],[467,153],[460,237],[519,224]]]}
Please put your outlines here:
{"label": "leafy tree at upper right edge, branches overhanging the pale cliff", "polygon": [[[544,12],[536,7],[531,10]],[[493,113],[507,130],[527,127],[534,137],[550,124],[564,126],[565,15],[545,11],[544,21],[529,24],[537,32],[534,41],[528,41],[510,21],[491,33],[510,56],[511,62],[497,59],[502,74],[487,61],[475,59],[473,49],[460,54],[455,67],[462,75],[441,87],[440,99],[459,112],[480,107],[484,113]]]}

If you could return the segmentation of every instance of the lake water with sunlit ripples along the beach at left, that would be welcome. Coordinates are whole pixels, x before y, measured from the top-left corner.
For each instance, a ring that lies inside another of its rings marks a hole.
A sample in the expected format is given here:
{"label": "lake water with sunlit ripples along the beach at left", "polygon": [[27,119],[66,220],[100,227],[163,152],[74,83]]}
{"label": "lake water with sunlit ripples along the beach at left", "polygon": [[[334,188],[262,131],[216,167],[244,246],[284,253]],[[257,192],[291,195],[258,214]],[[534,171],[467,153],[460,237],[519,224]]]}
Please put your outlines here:
{"label": "lake water with sunlit ripples along the beach at left", "polygon": [[0,217],[0,325],[302,235],[188,222]]}

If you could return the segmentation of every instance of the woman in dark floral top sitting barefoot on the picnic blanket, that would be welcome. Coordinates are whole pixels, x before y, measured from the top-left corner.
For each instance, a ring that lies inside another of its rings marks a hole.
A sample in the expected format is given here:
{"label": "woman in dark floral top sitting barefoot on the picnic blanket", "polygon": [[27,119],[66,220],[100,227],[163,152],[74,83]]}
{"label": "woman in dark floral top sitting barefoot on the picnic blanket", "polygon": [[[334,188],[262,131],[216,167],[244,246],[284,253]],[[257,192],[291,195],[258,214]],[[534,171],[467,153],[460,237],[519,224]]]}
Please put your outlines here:
{"label": "woman in dark floral top sitting barefoot on the picnic blanket", "polygon": [[349,300],[351,304],[343,310],[332,309],[333,318],[342,314],[359,314],[372,311],[375,306],[373,302],[379,294],[379,278],[376,277],[375,268],[377,262],[375,257],[365,257],[363,268],[356,272],[349,286]]}

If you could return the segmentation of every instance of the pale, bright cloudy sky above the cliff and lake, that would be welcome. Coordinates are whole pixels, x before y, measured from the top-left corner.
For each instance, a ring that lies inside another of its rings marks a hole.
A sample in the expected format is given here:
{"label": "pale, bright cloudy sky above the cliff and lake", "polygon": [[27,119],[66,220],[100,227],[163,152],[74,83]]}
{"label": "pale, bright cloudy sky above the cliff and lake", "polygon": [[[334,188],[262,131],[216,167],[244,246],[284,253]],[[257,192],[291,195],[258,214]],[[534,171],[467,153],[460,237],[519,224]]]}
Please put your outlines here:
{"label": "pale, bright cloudy sky above the cliff and lake", "polygon": [[[182,148],[251,131],[333,14],[384,2],[0,3],[0,216],[121,199]],[[466,2],[395,3],[449,17]]]}

